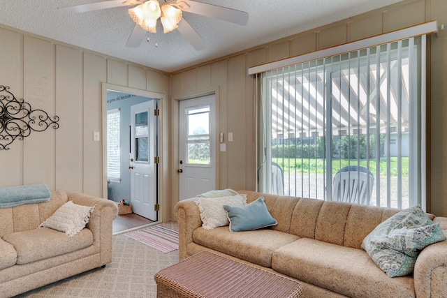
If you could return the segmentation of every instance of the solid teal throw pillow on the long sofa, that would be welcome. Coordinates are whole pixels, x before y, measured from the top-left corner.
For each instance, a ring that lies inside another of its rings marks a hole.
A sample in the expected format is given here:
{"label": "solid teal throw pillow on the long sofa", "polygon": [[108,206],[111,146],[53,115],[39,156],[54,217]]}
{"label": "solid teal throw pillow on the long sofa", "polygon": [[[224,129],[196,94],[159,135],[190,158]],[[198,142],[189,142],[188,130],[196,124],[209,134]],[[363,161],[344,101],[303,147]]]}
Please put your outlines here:
{"label": "solid teal throw pillow on the long sofa", "polygon": [[244,207],[223,205],[223,209],[230,221],[230,232],[257,230],[278,223],[270,215],[263,197]]}

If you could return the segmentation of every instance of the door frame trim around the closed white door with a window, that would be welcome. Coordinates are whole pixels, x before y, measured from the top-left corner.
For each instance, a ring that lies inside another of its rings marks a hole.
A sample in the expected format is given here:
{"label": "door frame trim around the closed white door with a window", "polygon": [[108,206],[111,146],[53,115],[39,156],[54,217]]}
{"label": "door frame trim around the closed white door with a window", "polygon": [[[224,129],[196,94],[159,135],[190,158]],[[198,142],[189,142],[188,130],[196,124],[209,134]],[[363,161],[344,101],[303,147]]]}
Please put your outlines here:
{"label": "door frame trim around the closed white door with a window", "polygon": [[[173,118],[171,121],[173,127],[173,140],[171,150],[173,152],[173,159],[171,160],[172,164],[175,165],[173,167],[173,171],[171,173],[171,181],[172,181],[172,191],[173,191],[173,206],[179,200],[179,173],[177,172],[177,165],[179,161],[179,102],[180,100],[196,98],[200,96],[206,96],[214,94],[215,98],[215,110],[216,110],[216,134],[215,141],[216,144],[219,143],[219,131],[220,131],[220,123],[219,123],[219,87],[211,87],[207,89],[202,89],[200,91],[190,92],[187,94],[178,94],[176,96],[172,96],[173,100]],[[219,188],[219,145],[215,148],[216,152],[216,188]]]}

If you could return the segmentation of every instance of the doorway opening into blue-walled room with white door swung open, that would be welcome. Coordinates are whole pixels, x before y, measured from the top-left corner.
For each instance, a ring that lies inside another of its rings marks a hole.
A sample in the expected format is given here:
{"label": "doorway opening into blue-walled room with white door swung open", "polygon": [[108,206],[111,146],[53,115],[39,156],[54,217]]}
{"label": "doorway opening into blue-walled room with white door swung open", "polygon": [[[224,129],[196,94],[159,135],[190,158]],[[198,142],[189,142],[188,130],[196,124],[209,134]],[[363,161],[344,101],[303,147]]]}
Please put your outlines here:
{"label": "doorway opening into blue-walled room with white door swung open", "polygon": [[[124,90],[123,90],[124,89]],[[105,90],[108,200],[131,204],[114,221],[114,234],[159,221],[159,99],[129,88]],[[104,96],[103,96],[104,98]]]}

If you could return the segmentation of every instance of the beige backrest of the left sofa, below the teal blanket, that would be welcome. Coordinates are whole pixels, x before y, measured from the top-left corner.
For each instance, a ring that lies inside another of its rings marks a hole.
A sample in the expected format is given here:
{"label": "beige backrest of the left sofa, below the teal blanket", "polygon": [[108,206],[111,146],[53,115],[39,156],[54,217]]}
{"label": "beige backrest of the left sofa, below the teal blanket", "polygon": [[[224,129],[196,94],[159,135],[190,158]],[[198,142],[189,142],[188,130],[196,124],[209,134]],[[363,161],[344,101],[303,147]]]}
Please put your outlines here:
{"label": "beige backrest of the left sofa, below the teal blanket", "polygon": [[68,201],[63,191],[52,191],[48,202],[22,204],[16,207],[0,209],[0,237],[12,232],[36,229],[40,223],[49,218],[54,211]]}

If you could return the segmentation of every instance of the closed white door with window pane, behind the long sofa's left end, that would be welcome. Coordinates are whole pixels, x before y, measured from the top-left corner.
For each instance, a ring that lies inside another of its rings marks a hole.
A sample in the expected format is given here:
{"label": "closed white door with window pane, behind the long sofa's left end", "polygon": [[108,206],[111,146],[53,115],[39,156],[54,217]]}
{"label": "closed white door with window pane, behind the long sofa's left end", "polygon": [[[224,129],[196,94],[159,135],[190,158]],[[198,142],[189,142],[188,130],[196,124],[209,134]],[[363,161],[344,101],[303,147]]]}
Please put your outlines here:
{"label": "closed white door with window pane, behind the long sofa's left end", "polygon": [[215,96],[179,103],[179,200],[216,189]]}

